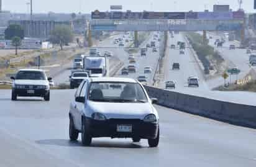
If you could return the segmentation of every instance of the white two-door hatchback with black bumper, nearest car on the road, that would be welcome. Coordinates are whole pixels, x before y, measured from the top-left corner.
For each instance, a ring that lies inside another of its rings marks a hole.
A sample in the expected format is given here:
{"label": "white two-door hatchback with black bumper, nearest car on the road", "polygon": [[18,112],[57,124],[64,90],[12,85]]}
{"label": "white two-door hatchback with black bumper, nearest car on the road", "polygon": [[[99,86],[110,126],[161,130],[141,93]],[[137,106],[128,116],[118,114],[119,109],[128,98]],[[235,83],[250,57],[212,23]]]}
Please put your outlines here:
{"label": "white two-door hatchback with black bumper, nearest car on the road", "polygon": [[88,78],[70,104],[70,140],[81,133],[83,145],[94,137],[147,139],[159,142],[159,117],[142,84],[130,78]]}

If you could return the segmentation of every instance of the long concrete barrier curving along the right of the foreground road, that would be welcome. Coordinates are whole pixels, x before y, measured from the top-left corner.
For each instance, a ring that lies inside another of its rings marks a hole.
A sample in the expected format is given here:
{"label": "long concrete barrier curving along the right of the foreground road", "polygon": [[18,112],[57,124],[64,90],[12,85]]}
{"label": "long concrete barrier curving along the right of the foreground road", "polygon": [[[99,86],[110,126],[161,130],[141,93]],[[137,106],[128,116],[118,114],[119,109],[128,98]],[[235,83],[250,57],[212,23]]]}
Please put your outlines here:
{"label": "long concrete barrier curving along the right of the foreground road", "polygon": [[152,86],[144,86],[150,97],[158,99],[158,105],[189,112],[191,114],[221,120],[235,125],[256,128],[256,106],[208,99],[176,93]]}

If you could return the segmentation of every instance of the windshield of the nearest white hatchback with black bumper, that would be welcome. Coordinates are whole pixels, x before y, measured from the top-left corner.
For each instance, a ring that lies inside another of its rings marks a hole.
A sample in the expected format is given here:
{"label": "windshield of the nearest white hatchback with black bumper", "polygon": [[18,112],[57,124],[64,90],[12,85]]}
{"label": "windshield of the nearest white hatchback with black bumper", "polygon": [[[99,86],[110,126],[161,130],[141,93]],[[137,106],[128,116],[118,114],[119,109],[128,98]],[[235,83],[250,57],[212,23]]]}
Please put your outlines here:
{"label": "windshield of the nearest white hatchback with black bumper", "polygon": [[138,83],[91,83],[89,100],[98,102],[147,102],[144,89]]}

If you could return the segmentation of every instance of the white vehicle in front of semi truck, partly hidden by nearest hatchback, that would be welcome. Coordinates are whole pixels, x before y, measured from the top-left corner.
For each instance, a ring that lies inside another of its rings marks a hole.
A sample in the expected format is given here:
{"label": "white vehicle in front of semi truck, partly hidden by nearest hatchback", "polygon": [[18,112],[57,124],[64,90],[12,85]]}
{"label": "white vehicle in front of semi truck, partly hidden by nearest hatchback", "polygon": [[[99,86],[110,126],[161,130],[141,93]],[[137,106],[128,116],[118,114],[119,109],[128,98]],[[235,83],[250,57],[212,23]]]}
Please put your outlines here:
{"label": "white vehicle in front of semi truck, partly hidden by nearest hatchback", "polygon": [[70,76],[70,89],[75,89],[80,86],[83,79],[88,78],[89,75],[86,72],[75,72]]}

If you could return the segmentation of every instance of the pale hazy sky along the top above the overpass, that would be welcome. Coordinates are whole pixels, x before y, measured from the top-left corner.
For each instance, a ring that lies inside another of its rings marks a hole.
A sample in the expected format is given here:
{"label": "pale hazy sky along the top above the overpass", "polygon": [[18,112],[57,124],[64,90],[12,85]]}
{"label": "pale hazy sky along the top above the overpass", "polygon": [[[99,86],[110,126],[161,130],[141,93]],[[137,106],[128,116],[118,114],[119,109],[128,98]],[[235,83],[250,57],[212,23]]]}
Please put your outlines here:
{"label": "pale hazy sky along the top above the overpass", "polygon": [[[30,0],[2,0],[2,8],[11,12],[27,12],[26,3]],[[229,4],[238,9],[238,0],[33,0],[34,12],[83,12],[95,9],[106,11],[110,5],[123,5],[124,10],[132,11],[203,11],[213,10],[213,4]],[[254,0],[243,0],[246,12],[254,12]]]}

